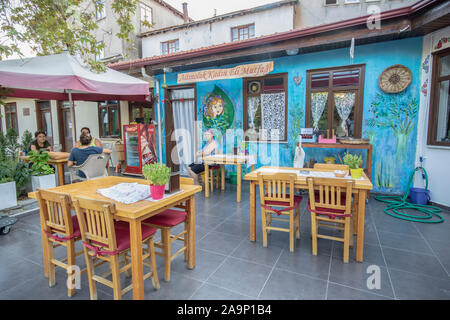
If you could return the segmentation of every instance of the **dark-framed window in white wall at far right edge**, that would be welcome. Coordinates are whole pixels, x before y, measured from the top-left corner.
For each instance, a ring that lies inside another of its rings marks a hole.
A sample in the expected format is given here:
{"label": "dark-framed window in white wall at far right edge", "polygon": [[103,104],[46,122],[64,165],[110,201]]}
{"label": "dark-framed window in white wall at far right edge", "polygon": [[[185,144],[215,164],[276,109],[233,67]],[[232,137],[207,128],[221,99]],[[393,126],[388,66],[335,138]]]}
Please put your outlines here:
{"label": "dark-framed window in white wall at far right edge", "polygon": [[450,146],[450,49],[433,54],[428,144]]}

